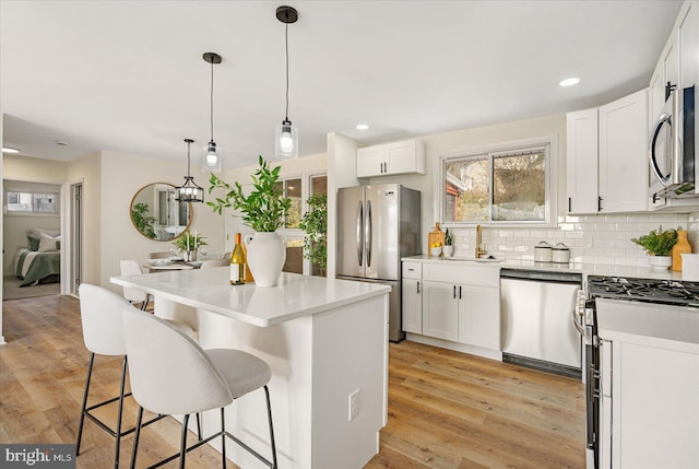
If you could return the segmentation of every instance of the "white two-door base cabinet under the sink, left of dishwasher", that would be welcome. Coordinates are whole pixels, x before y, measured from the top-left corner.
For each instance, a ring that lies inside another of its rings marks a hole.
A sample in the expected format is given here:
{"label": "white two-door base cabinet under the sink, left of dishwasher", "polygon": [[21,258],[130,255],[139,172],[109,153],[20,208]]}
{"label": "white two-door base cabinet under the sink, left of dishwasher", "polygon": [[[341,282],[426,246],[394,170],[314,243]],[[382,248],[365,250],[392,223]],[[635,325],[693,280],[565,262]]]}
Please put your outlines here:
{"label": "white two-door base cabinet under the sink, left of dishwasher", "polygon": [[425,263],[423,335],[499,351],[499,269]]}

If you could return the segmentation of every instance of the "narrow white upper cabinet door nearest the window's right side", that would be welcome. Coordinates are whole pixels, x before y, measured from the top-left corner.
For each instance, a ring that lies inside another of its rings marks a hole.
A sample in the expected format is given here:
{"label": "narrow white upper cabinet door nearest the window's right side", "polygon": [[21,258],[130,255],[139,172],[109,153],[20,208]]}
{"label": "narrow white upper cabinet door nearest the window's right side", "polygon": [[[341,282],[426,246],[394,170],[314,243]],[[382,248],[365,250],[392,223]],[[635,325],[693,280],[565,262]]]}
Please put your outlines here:
{"label": "narrow white upper cabinet door nearest the window's right side", "polygon": [[597,213],[597,109],[567,115],[568,212]]}

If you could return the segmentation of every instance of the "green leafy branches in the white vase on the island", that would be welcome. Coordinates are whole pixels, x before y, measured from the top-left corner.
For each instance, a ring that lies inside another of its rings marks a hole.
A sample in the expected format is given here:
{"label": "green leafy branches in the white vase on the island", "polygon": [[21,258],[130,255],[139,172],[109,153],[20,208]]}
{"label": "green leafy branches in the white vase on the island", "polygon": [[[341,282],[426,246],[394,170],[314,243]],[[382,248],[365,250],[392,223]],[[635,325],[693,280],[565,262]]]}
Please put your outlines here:
{"label": "green leafy branches in the white vase on the island", "polygon": [[242,214],[242,222],[258,233],[274,232],[284,226],[284,221],[292,207],[292,199],[284,196],[280,184],[281,166],[274,168],[262,156],[259,160],[260,167],[252,176],[253,190],[249,196],[242,194],[242,186],[236,181],[234,186],[211,175],[209,194],[214,189],[226,191],[223,198],[216,198],[214,202],[206,202],[214,212],[221,214],[224,208],[233,207]]}

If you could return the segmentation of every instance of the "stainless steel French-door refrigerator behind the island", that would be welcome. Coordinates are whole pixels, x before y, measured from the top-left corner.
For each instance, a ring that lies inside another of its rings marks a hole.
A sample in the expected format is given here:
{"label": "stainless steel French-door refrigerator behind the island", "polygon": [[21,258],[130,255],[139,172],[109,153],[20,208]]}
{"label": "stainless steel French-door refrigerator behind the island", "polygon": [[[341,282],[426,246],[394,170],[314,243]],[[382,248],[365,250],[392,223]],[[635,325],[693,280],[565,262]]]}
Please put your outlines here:
{"label": "stainless steel French-door refrigerator behind the island", "polygon": [[337,191],[337,278],[391,286],[389,339],[401,325],[401,258],[420,254],[420,192],[399,184]]}

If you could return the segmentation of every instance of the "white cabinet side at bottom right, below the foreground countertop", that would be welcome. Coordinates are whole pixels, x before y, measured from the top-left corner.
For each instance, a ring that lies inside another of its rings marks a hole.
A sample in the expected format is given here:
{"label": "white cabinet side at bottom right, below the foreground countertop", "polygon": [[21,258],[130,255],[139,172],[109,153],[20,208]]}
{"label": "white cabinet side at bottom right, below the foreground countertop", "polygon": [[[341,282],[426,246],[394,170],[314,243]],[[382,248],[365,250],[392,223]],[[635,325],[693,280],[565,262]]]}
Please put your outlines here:
{"label": "white cabinet side at bottom right, below the foreground countertop", "polygon": [[616,340],[612,354],[602,409],[612,407],[612,464],[603,467],[699,467],[699,355]]}

